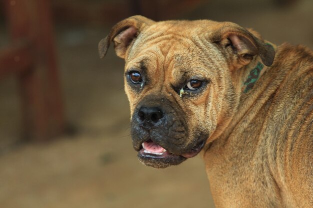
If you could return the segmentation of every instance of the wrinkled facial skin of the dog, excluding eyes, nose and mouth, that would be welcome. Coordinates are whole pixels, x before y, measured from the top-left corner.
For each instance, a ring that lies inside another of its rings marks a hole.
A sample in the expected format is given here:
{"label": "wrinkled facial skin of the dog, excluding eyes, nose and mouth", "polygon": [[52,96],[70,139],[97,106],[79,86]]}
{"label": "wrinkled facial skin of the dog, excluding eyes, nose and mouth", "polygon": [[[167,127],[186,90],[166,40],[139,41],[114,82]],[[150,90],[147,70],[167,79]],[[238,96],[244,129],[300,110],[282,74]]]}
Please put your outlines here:
{"label": "wrinkled facial skin of the dog, excluding eyes, nose and mouth", "polygon": [[[142,37],[139,34],[125,64],[125,91],[130,102],[135,150],[139,151],[144,141],[152,140],[172,154],[166,158],[138,154],[140,161],[155,168],[177,165],[186,159],[182,154],[201,148],[199,145],[214,131],[216,115],[221,110],[212,102],[221,102],[218,94],[224,90],[225,80],[218,75],[218,68],[225,66],[212,63],[209,51],[202,51],[195,44],[196,39],[181,33],[171,23],[151,26]],[[128,80],[127,72],[132,70],[140,72],[142,85]],[[191,79],[201,80],[201,87],[194,91],[185,89],[186,94],[180,97],[180,89]],[[161,108],[164,121],[152,129],[144,128],[137,122],[142,106]]]}

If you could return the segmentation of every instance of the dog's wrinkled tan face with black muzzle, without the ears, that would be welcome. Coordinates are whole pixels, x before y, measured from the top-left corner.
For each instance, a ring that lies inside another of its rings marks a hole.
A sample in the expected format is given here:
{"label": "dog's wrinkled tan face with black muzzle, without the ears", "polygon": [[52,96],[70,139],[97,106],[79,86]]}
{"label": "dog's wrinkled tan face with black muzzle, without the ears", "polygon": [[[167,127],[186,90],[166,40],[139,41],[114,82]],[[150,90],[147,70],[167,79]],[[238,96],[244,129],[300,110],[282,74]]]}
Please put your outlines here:
{"label": "dog's wrinkled tan face with black muzzle, without the ears", "polygon": [[[216,126],[205,104],[216,72],[194,42],[168,27],[151,26],[144,34],[152,38],[139,34],[125,65],[133,147],[141,162],[158,168],[196,155]],[[155,31],[163,33],[156,41]]]}

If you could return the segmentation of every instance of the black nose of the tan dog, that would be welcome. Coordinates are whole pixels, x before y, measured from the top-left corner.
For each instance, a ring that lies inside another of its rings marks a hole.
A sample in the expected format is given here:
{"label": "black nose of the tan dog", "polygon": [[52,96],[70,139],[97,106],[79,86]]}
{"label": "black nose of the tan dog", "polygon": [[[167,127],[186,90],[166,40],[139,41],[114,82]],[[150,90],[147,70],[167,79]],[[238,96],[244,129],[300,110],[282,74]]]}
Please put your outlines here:
{"label": "black nose of the tan dog", "polygon": [[164,114],[160,108],[141,107],[138,111],[138,120],[141,124],[153,127],[163,118]]}

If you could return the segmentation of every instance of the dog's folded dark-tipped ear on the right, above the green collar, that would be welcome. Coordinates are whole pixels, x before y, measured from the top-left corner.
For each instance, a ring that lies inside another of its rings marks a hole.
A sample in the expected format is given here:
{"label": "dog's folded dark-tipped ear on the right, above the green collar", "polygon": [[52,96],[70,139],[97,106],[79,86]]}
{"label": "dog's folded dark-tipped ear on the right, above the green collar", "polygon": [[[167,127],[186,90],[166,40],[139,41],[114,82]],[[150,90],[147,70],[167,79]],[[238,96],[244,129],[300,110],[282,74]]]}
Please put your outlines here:
{"label": "dog's folded dark-tipped ear on the right, above the green collar", "polygon": [[255,55],[266,66],[270,66],[274,60],[275,51],[271,45],[264,43],[256,32],[249,32],[234,23],[226,22],[212,34],[211,41],[222,47],[233,69],[247,65]]}

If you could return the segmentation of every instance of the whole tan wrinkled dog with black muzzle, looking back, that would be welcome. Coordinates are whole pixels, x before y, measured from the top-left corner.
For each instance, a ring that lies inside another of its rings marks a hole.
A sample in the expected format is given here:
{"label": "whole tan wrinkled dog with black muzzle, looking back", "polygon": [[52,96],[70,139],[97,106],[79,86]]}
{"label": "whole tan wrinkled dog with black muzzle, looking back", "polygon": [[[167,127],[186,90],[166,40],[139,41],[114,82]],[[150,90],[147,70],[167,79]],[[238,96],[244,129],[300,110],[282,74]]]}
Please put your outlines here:
{"label": "whole tan wrinkled dog with black muzzle, looking back", "polygon": [[132,16],[99,42],[125,59],[147,166],[202,150],[216,208],[313,208],[313,52],[231,22]]}

